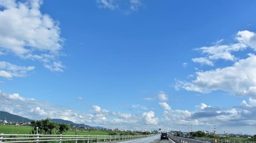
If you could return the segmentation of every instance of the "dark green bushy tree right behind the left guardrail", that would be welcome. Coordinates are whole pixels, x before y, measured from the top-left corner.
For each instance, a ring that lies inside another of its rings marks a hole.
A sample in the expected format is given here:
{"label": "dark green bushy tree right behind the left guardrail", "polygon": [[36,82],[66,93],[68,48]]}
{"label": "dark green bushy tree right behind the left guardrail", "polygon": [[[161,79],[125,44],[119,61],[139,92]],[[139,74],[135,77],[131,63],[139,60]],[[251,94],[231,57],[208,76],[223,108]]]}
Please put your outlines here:
{"label": "dark green bushy tree right behind the left guardrail", "polygon": [[[38,121],[32,121],[30,125],[33,127],[31,130],[32,134],[45,134],[45,135],[53,135],[53,134],[62,134],[70,129],[70,125],[65,123],[55,123],[51,122],[50,118],[42,119]],[[38,127],[38,130],[37,130]],[[38,132],[37,132],[38,131]]]}

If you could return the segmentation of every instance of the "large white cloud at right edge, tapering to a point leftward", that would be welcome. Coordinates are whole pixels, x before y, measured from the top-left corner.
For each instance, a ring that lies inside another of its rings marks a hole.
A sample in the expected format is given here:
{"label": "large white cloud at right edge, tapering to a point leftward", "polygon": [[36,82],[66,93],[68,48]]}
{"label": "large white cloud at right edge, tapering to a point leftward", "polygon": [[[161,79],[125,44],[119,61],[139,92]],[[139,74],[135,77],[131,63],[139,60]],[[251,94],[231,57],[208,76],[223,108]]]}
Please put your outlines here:
{"label": "large white cloud at right edge, tapering to a point leftward", "polygon": [[178,81],[175,88],[209,93],[222,90],[239,96],[256,96],[256,56],[238,60],[233,66],[196,72],[191,82]]}

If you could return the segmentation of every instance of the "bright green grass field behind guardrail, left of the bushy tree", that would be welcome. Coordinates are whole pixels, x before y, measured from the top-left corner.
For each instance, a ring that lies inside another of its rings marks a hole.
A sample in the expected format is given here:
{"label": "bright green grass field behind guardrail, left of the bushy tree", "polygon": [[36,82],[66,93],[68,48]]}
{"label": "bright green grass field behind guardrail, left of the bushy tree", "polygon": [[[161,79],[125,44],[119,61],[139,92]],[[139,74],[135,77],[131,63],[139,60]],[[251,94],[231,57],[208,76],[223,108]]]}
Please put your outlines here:
{"label": "bright green grass field behind guardrail, left of the bushy tree", "polygon": [[0,133],[4,134],[29,134],[30,126],[0,125]]}

